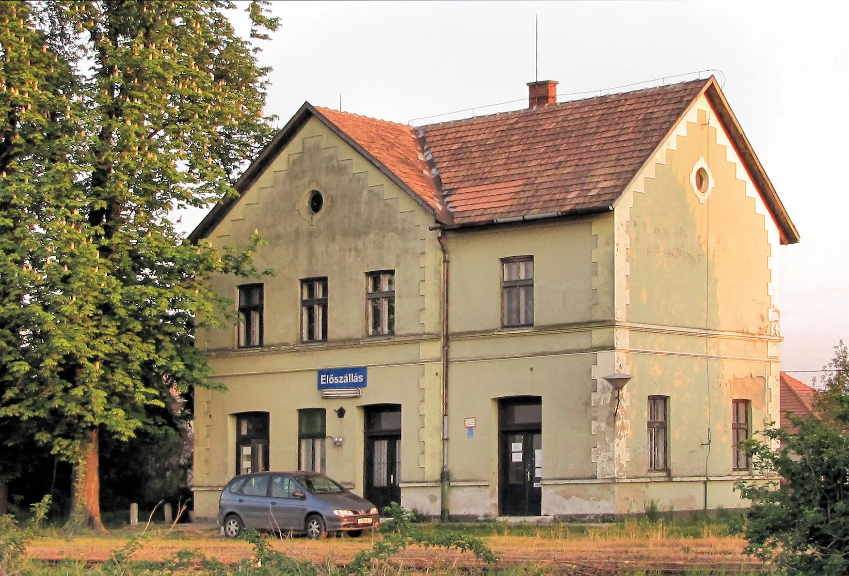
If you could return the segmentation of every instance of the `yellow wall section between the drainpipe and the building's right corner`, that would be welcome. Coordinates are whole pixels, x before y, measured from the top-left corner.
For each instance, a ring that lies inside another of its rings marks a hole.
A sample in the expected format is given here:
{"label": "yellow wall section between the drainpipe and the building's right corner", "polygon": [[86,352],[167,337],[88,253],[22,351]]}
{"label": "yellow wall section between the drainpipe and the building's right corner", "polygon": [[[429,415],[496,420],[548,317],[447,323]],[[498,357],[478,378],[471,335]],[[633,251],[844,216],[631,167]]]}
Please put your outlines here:
{"label": "yellow wall section between the drainpipe and the building's right corner", "polygon": [[[595,477],[592,372],[595,350],[613,347],[612,230],[599,215],[447,236],[452,513],[498,514],[498,399],[542,398],[546,481]],[[502,329],[501,260],[520,255],[534,260],[534,322]],[[556,498],[543,491],[543,513]]]}

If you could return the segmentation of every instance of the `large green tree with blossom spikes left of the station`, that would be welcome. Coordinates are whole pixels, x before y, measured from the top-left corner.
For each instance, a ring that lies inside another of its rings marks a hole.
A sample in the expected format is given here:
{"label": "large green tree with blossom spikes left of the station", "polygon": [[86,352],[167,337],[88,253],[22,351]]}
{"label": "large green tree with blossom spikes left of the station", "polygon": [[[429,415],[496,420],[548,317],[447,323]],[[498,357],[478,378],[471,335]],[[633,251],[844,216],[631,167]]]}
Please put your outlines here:
{"label": "large green tree with blossom spikes left of the station", "polygon": [[205,385],[194,329],[228,306],[208,277],[256,273],[257,238],[219,253],[169,217],[235,193],[272,131],[231,8],[0,3],[0,419],[75,465],[76,522],[100,527],[98,435]]}

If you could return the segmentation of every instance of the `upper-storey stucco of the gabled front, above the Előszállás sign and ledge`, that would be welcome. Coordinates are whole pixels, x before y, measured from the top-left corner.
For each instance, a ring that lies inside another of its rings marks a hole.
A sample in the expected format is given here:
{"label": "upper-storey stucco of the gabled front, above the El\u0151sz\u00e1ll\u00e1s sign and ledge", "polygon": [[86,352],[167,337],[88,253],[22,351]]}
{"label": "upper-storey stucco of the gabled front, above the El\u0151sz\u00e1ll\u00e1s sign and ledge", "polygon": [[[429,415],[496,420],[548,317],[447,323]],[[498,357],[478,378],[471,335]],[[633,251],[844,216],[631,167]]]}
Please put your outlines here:
{"label": "upper-storey stucco of the gabled front, above the El\u0151sz\u00e1ll\u00e1s sign and ledge", "polygon": [[[323,194],[318,215],[307,209]],[[439,330],[439,246],[432,217],[318,120],[306,123],[259,180],[209,235],[244,246],[257,231],[267,242],[254,255],[265,283],[266,346],[301,340],[300,280],[328,277],[329,340],[365,337],[365,273],[394,270],[396,335]],[[250,279],[216,277],[216,291],[235,299]],[[426,310],[426,312],[423,312]],[[232,328],[204,334],[207,350],[232,349]]]}

